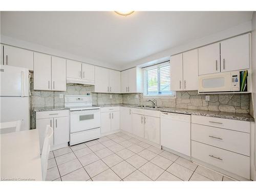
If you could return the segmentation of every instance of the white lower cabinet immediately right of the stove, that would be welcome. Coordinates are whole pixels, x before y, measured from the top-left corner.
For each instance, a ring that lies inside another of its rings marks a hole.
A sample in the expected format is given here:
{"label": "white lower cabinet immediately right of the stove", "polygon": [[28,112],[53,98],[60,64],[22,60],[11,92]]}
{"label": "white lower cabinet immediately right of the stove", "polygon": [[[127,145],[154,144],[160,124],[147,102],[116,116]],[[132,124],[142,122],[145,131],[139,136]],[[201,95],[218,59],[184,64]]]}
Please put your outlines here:
{"label": "white lower cabinet immediately right of the stove", "polygon": [[100,133],[105,134],[120,129],[120,107],[101,108]]}

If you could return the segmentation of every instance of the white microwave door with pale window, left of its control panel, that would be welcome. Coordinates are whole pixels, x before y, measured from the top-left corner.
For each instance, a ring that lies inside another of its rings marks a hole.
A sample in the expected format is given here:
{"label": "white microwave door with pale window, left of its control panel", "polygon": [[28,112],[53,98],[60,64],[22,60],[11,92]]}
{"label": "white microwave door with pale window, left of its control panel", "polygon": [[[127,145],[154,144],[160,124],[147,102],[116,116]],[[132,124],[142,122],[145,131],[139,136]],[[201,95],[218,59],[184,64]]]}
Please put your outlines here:
{"label": "white microwave door with pale window, left of its control panel", "polygon": [[231,74],[218,73],[199,76],[199,93],[231,91]]}

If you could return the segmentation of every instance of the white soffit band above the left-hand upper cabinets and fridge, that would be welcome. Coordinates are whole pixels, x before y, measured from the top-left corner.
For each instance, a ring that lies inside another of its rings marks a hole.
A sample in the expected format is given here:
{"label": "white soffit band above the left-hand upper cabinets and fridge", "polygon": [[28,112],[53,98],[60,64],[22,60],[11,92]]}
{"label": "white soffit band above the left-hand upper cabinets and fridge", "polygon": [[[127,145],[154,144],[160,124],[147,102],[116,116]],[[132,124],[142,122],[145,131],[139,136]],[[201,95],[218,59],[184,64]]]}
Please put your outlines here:
{"label": "white soffit band above the left-hand upper cabinets and fridge", "polygon": [[101,67],[106,67],[106,68],[110,68],[110,69],[120,70],[120,66],[114,66],[114,65],[111,65],[110,63],[104,63],[104,62],[100,62],[100,61],[93,60],[93,59],[90,59],[90,58],[81,57],[81,56],[70,54],[70,53],[67,53],[67,52],[62,52],[62,51],[59,51],[59,50],[56,50],[56,49],[51,49],[51,48],[48,48],[48,47],[45,47],[45,46],[34,44],[32,42],[15,39],[15,38],[5,36],[5,35],[2,35],[2,34],[0,36],[0,39],[1,39],[0,42],[2,44],[7,44],[7,45],[19,47],[19,48],[29,49],[29,50],[32,50],[32,51],[38,51],[38,52],[41,52],[41,53],[46,53],[46,54],[55,55],[55,56],[59,56],[59,57],[64,57],[64,58],[68,58],[68,59],[73,59],[73,60],[77,60],[77,61],[81,61],[81,62],[86,62],[86,63],[90,63],[90,64],[93,64],[93,65],[96,65],[96,66],[101,66]]}

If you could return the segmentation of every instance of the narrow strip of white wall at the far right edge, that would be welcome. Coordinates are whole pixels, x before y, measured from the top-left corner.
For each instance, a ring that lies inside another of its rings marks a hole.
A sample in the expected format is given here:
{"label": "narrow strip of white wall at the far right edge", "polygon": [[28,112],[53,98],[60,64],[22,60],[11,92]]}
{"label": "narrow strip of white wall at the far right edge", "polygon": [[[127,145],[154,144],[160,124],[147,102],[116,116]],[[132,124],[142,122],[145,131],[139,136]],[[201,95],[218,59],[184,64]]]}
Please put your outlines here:
{"label": "narrow strip of white wall at the far right edge", "polygon": [[[256,119],[256,12],[252,16],[252,33],[251,33],[251,53],[252,53],[252,100],[254,109],[254,119]],[[256,123],[254,127],[256,138]],[[254,167],[256,167],[256,141],[254,140]]]}

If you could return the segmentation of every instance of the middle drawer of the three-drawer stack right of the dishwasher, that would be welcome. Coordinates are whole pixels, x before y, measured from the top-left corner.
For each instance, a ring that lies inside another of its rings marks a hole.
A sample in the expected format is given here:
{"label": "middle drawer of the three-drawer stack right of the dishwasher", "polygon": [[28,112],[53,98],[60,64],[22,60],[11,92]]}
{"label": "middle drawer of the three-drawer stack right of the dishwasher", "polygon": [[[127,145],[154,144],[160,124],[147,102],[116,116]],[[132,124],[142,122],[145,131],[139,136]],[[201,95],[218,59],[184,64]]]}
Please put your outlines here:
{"label": "middle drawer of the three-drawer stack right of the dishwasher", "polygon": [[250,156],[250,134],[191,123],[191,140]]}

